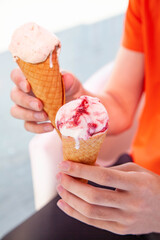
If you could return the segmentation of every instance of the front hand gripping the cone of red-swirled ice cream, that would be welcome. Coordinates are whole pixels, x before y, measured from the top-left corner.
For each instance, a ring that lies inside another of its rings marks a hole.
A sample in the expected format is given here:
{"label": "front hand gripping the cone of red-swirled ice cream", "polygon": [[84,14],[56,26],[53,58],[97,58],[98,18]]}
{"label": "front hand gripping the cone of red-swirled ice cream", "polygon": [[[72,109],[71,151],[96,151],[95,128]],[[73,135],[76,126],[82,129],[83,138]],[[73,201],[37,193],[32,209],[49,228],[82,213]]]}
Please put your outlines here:
{"label": "front hand gripping the cone of red-swirled ice cream", "polygon": [[[160,176],[134,164],[112,168],[60,163],[57,205],[69,216],[117,234],[160,232]],[[116,190],[82,183],[88,179]]]}

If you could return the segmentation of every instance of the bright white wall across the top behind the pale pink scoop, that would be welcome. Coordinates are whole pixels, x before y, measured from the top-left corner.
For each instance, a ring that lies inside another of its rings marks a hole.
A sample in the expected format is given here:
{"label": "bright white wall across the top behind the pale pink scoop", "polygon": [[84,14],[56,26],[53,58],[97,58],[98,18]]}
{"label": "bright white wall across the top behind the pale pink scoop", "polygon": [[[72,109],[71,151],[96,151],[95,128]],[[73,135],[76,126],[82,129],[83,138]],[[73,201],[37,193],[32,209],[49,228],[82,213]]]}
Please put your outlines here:
{"label": "bright white wall across the top behind the pale pink scoop", "polygon": [[34,21],[50,31],[92,23],[124,12],[128,0],[0,0],[0,52],[12,32]]}

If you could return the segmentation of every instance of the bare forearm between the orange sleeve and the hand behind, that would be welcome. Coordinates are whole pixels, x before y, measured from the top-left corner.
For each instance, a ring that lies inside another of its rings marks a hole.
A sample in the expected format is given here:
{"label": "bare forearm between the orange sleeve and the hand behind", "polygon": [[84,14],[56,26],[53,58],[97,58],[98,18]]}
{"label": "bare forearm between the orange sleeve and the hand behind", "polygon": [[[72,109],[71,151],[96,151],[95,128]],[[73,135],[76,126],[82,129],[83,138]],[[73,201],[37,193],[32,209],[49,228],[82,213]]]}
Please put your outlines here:
{"label": "bare forearm between the orange sleeve and the hand behind", "polygon": [[[105,78],[105,68],[102,69],[97,82]],[[110,79],[101,86],[100,91],[85,94],[98,97],[109,114],[108,134],[119,134],[131,127],[139,101],[143,92],[144,56],[143,53],[130,51],[121,47],[113,67]],[[94,77],[95,78],[95,77]],[[95,81],[95,79],[94,79]]]}

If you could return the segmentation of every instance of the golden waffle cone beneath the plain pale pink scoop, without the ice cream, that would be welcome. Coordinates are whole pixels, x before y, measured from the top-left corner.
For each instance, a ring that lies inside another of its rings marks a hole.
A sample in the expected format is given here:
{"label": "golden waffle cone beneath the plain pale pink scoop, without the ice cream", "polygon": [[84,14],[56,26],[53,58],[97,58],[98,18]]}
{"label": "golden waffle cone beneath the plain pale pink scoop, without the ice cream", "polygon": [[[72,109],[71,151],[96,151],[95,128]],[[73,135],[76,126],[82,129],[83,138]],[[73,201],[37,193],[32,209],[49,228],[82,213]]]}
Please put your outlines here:
{"label": "golden waffle cone beneath the plain pale pink scoop, without the ice cream", "polygon": [[[51,60],[53,68],[50,67]],[[56,113],[65,102],[64,84],[59,71],[56,49],[44,62],[32,64],[18,58],[17,64],[30,83],[35,96],[43,102],[44,110],[56,128]],[[58,130],[57,132],[59,133]]]}

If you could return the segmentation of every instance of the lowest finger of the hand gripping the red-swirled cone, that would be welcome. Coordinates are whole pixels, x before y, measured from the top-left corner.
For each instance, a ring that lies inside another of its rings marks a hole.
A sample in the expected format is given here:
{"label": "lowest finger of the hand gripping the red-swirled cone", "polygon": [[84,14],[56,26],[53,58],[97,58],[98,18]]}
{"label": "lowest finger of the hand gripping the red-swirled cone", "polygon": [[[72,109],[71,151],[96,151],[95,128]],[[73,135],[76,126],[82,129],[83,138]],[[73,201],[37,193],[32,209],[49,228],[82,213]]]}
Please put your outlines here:
{"label": "lowest finger of the hand gripping the red-swirled cone", "polygon": [[63,212],[65,212],[70,217],[73,217],[73,218],[75,218],[81,222],[84,222],[88,225],[95,226],[100,229],[107,229],[108,231],[111,231],[114,233],[125,234],[123,225],[121,225],[117,222],[101,221],[101,220],[88,218],[88,217],[82,215],[81,213],[79,213],[78,211],[76,211],[71,206],[69,206],[63,200],[59,200],[57,205]]}

